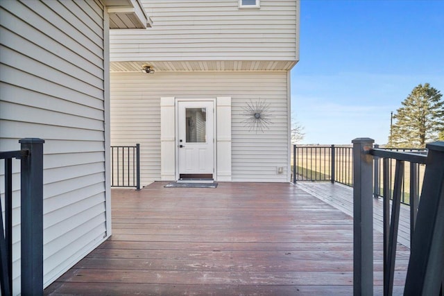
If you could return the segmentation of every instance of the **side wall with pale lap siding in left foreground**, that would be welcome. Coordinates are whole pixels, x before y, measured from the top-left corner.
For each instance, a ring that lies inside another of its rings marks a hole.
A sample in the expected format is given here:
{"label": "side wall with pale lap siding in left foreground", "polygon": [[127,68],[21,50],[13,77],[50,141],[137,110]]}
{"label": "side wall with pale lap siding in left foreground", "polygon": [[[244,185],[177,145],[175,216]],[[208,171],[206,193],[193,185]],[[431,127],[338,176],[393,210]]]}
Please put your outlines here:
{"label": "side wall with pale lap siding in left foreground", "polygon": [[[45,140],[48,286],[110,235],[105,211],[110,206],[105,184],[108,16],[100,1],[1,1],[0,6],[0,150],[19,150],[24,137]],[[3,175],[3,161],[0,167]],[[13,288],[18,293],[18,161],[13,170]],[[0,190],[4,202],[4,184]]]}

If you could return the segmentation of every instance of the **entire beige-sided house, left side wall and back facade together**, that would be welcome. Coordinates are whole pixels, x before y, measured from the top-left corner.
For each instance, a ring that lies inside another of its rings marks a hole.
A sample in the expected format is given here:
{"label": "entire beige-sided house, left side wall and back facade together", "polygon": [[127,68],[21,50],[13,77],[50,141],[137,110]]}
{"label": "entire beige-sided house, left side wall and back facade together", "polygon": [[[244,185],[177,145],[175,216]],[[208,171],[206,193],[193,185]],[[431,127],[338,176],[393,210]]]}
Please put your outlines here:
{"label": "entire beige-sided house, left side wall and back facade together", "polygon": [[[17,150],[26,137],[45,141],[44,286],[112,234],[111,139],[142,144],[144,182],[180,175],[180,132],[183,141],[210,144],[197,149],[198,164],[213,164],[202,175],[288,182],[298,5],[0,1],[0,150]],[[155,73],[141,73],[143,64]],[[260,121],[249,106],[260,109]],[[179,110],[188,130],[176,120]],[[19,171],[17,161],[14,294],[20,293]]]}

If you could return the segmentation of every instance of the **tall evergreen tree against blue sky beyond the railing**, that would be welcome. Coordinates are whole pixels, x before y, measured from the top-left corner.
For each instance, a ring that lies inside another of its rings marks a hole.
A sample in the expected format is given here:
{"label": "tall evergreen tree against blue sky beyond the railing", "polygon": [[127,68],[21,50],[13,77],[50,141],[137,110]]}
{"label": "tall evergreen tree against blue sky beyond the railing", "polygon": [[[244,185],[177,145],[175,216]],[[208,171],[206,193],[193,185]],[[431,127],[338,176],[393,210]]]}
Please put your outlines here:
{"label": "tall evergreen tree against blue sky beyond the railing", "polygon": [[393,115],[388,146],[396,148],[425,148],[425,143],[436,141],[444,133],[444,101],[438,90],[418,85],[402,101],[402,107]]}

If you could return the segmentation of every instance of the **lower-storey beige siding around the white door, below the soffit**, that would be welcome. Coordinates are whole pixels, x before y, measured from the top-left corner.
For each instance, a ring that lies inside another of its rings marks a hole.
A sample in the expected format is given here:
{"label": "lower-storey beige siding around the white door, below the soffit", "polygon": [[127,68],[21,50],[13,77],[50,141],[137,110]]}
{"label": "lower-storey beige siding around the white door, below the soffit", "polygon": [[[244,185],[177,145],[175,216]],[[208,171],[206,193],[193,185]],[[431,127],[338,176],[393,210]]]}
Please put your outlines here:
{"label": "lower-storey beige siding around the white door, below the soffit", "polygon": [[[160,98],[166,96],[231,97],[232,181],[289,182],[287,72],[111,73],[111,143],[140,143],[142,186],[161,177]],[[259,99],[270,103],[273,123],[248,131],[242,108]]]}

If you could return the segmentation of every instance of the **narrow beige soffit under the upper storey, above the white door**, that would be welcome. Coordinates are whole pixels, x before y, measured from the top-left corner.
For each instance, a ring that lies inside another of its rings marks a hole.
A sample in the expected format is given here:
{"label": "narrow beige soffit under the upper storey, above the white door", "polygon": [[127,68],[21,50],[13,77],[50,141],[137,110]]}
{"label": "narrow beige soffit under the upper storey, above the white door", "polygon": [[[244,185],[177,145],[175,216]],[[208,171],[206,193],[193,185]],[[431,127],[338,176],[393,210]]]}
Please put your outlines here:
{"label": "narrow beige soffit under the upper storey, above the white door", "polygon": [[147,64],[155,71],[289,71],[295,61],[131,61],[111,62],[111,72],[140,72]]}

